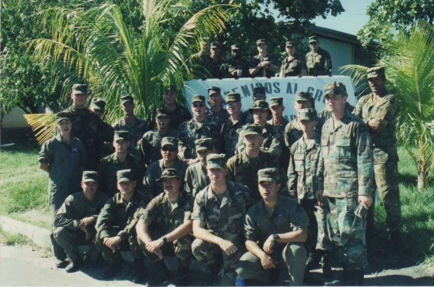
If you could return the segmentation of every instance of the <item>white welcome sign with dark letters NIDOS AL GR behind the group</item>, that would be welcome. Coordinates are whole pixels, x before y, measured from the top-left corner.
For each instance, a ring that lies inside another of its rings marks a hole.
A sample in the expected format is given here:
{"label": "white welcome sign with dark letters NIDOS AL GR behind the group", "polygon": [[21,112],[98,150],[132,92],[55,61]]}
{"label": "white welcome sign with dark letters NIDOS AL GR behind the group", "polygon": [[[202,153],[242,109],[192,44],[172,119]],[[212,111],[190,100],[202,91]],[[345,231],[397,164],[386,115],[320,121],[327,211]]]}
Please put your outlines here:
{"label": "white welcome sign with dark letters NIDOS AL GR behind the group", "polygon": [[208,96],[209,87],[219,87],[222,90],[223,99],[226,94],[239,93],[241,102],[243,103],[242,110],[245,111],[253,105],[253,88],[263,86],[267,91],[267,101],[272,97],[282,97],[285,111],[283,116],[287,120],[296,118],[296,110],[294,109],[294,95],[296,92],[309,92],[315,99],[315,108],[319,112],[325,108],[324,86],[331,82],[341,82],[347,88],[347,101],[355,106],[357,98],[355,96],[354,85],[349,76],[303,76],[303,77],[274,77],[268,79],[266,77],[255,77],[254,79],[208,79],[208,80],[191,80],[184,83],[182,93],[185,96],[188,107],[191,105],[191,98],[194,95]]}

